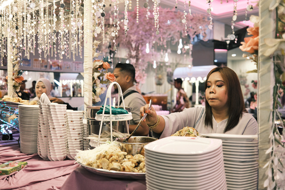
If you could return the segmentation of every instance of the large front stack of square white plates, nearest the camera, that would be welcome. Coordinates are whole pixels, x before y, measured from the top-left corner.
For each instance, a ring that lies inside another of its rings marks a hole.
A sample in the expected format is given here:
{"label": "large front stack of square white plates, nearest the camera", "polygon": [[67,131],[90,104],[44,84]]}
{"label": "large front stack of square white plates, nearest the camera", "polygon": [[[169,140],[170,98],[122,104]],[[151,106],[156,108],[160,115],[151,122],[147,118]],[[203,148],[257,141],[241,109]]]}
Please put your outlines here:
{"label": "large front stack of square white plates, nearest the camera", "polygon": [[227,190],[220,139],[170,136],[144,150],[148,190]]}

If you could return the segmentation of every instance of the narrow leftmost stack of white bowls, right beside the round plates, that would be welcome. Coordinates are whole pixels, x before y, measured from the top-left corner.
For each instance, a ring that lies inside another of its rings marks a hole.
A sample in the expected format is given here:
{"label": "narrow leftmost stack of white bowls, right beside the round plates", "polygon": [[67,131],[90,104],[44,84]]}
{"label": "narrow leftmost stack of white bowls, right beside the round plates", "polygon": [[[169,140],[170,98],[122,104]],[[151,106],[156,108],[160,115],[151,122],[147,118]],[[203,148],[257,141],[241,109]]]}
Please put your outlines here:
{"label": "narrow leftmost stack of white bowls, right beside the round plates", "polygon": [[38,123],[38,155],[48,160],[48,105],[39,103],[39,123]]}

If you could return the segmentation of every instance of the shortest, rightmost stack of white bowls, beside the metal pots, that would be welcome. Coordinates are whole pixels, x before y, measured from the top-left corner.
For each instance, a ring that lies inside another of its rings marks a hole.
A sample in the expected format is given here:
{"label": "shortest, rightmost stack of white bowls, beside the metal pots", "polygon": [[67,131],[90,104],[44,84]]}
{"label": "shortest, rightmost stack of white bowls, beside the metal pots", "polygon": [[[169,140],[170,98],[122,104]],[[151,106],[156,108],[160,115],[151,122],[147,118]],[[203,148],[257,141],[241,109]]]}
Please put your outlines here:
{"label": "shortest, rightmost stack of white bowls, beside the metal pots", "polygon": [[76,150],[83,150],[84,111],[66,110],[67,113],[67,158],[74,159]]}

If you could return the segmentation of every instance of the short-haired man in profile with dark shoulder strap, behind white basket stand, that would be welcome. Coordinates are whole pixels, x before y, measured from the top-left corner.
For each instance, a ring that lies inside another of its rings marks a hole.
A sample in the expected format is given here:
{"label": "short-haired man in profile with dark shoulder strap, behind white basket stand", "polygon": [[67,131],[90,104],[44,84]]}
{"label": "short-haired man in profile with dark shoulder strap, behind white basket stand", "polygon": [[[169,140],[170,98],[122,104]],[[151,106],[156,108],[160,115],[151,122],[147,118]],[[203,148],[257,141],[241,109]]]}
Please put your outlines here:
{"label": "short-haired man in profile with dark shoulder strap, behind white basket stand", "polygon": [[[136,70],[132,64],[117,63],[113,74],[115,76],[115,81],[118,82],[122,89],[125,106],[131,108],[133,119],[130,120],[129,131],[132,133],[141,120],[140,108],[146,104],[142,95],[137,91],[136,86],[134,85]],[[118,91],[116,85],[114,85],[114,90]],[[119,105],[123,106],[123,103],[120,102]],[[148,127],[145,122],[142,122],[135,133],[135,136],[147,135]]]}

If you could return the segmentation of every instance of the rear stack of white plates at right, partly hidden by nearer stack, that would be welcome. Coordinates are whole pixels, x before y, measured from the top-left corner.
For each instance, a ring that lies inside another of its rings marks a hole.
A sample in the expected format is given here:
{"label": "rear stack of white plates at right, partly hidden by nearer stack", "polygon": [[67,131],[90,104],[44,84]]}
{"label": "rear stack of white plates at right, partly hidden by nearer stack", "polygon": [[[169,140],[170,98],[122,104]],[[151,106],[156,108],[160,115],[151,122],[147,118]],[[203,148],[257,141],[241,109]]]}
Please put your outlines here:
{"label": "rear stack of white plates at right, partly hidden by nearer stack", "polygon": [[223,154],[228,190],[257,189],[257,135],[201,135],[223,140]]}

